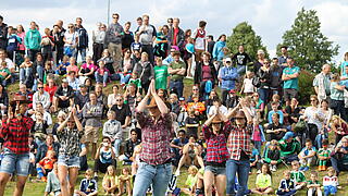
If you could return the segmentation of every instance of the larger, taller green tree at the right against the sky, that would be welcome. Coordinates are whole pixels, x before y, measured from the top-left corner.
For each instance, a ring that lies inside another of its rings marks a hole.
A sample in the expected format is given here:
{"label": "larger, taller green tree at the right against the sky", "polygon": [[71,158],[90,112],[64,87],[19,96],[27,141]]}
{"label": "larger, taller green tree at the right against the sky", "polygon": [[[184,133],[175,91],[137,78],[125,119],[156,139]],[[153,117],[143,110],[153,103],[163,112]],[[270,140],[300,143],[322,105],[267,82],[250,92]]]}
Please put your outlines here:
{"label": "larger, taller green tree at the right against the sky", "polygon": [[331,63],[334,56],[338,54],[338,45],[333,45],[321,30],[321,23],[316,11],[306,11],[303,8],[297,13],[291,29],[283,35],[283,42],[277,46],[277,54],[281,54],[281,46],[287,46],[289,56],[301,69],[320,72],[325,63]]}

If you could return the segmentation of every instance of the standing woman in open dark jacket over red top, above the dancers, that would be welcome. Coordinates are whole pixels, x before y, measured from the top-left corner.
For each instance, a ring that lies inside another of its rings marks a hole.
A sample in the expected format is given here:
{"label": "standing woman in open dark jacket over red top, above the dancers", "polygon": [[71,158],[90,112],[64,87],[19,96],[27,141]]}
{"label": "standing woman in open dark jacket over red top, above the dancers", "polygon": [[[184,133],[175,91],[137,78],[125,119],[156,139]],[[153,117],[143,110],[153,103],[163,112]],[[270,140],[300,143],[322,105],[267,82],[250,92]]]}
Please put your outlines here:
{"label": "standing woman in open dark jacket over red top, above the dancers", "polygon": [[204,100],[214,88],[215,81],[217,81],[217,73],[215,66],[210,61],[210,53],[203,52],[202,61],[196,66],[195,84],[199,85],[199,91]]}

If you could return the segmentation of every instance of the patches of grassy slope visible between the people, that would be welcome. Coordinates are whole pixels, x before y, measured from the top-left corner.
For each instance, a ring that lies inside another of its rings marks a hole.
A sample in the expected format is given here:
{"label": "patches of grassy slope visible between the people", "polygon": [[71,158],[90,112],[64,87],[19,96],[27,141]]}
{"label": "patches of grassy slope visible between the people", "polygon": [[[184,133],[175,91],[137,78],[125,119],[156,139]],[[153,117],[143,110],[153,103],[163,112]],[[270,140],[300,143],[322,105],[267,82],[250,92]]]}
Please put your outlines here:
{"label": "patches of grassy slope visible between the people", "polygon": [[[189,95],[190,88],[192,86],[192,81],[189,79],[185,79],[185,91],[184,95],[185,97],[187,97]],[[17,85],[12,85],[9,87],[9,91],[17,91],[18,87]],[[108,87],[105,87],[103,89],[104,93],[111,93],[112,91],[112,85],[108,85]],[[100,134],[101,135],[101,134]],[[334,135],[331,133],[330,134],[330,139],[333,140],[334,139]],[[88,161],[88,164],[90,168],[94,167],[94,162],[92,161]],[[123,166],[121,164],[121,162],[117,162],[117,173],[120,174],[120,170],[123,168]],[[284,166],[281,166],[277,170],[277,172],[275,172],[272,176],[273,179],[273,187],[276,188],[278,186],[279,181],[282,180],[283,176],[283,171],[286,168]],[[312,170],[315,168],[312,168]],[[256,181],[256,170],[252,170],[252,174],[249,175],[249,188],[253,188],[254,187],[254,181]],[[310,171],[306,172],[306,176],[309,177]],[[320,180],[322,180],[322,177],[326,174],[326,172],[320,172]],[[80,173],[78,175],[78,181],[76,183],[76,188],[78,188],[79,182],[80,180],[84,177],[84,175]],[[178,187],[184,187],[185,186],[185,181],[187,177],[187,168],[183,167],[182,172],[181,172],[181,176],[178,177],[178,182],[177,182],[177,186]],[[98,187],[99,187],[99,195],[102,195],[102,191],[101,191],[101,179],[102,175],[99,174],[99,183],[98,183]],[[340,186],[344,187],[338,191],[337,195],[348,195],[348,189],[347,187],[347,179],[348,175],[346,172],[341,172],[341,174],[339,175],[339,183]],[[15,187],[15,182],[9,182],[7,187],[5,187],[5,195],[10,196],[12,195],[13,191]],[[45,192],[45,183],[32,183],[28,182],[26,183],[25,189],[24,189],[24,195],[25,196],[38,196],[38,195],[44,195]],[[306,195],[304,191],[298,192],[297,195]]]}

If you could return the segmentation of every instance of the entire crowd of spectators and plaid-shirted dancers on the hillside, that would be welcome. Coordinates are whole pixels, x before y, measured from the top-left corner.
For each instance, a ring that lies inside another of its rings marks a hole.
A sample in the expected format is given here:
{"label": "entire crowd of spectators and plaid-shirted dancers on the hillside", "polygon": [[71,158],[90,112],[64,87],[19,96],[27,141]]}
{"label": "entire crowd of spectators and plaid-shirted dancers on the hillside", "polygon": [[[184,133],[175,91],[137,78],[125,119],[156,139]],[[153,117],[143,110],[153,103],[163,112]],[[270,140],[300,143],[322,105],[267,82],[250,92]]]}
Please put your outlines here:
{"label": "entire crowd of spectators and plaid-shirted dancers on the hillside", "polygon": [[14,195],[29,175],[55,196],[337,193],[348,171],[348,52],[339,73],[322,65],[304,107],[286,46],[251,59],[243,45],[232,53],[226,35],[214,40],[204,21],[157,28],[142,15],[133,33],[119,20],[98,23],[90,38],[80,17],[41,35],[35,22],[25,30],[0,16],[0,195],[14,175]]}

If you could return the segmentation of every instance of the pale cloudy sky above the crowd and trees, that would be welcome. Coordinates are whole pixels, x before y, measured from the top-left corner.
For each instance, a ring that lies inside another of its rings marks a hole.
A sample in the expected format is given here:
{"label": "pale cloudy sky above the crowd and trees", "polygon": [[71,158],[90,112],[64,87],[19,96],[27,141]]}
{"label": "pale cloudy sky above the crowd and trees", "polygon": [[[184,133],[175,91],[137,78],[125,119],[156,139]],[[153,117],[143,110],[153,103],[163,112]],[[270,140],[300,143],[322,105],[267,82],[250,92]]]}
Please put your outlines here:
{"label": "pale cloudy sky above the crowd and trees", "polygon": [[[22,24],[28,29],[29,22],[52,27],[58,20],[64,21],[64,27],[83,17],[83,25],[91,33],[98,22],[108,21],[109,0],[1,0],[0,15],[4,23],[16,26]],[[132,22],[136,28],[136,19],[150,15],[150,23],[160,26],[167,17],[179,17],[183,29],[195,29],[200,20],[208,22],[207,33],[217,38],[221,34],[229,36],[232,29],[241,22],[248,22],[257,35],[261,36],[271,57],[275,47],[282,42],[282,36],[290,29],[297,12],[315,10],[322,23],[321,30],[334,44],[338,44],[339,54],[336,63],[343,60],[348,45],[348,25],[345,14],[347,0],[110,0],[110,12],[120,14],[120,23]],[[91,35],[91,34],[90,34]]]}

